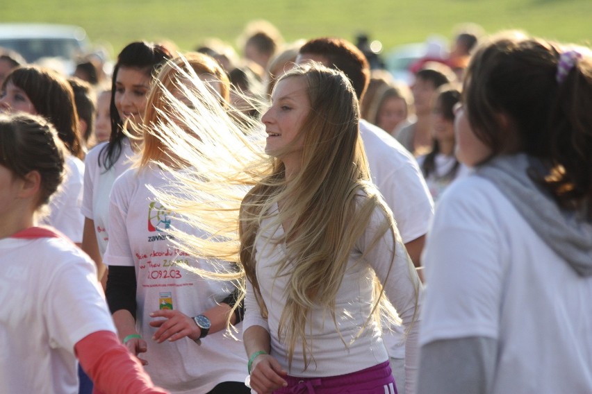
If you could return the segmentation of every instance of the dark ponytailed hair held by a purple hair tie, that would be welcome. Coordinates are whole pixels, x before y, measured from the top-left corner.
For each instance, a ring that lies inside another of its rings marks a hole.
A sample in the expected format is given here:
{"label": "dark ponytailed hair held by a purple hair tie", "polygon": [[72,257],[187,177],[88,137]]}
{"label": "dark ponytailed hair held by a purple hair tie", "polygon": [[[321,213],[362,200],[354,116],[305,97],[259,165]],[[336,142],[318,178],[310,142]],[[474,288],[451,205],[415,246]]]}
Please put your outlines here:
{"label": "dark ponytailed hair held by a purple hair tie", "polygon": [[[582,58],[557,83],[562,52]],[[524,152],[548,166],[540,182],[558,203],[592,216],[592,54],[524,33],[479,45],[466,72],[463,103],[475,135],[492,156]],[[504,119],[502,119],[502,116]]]}

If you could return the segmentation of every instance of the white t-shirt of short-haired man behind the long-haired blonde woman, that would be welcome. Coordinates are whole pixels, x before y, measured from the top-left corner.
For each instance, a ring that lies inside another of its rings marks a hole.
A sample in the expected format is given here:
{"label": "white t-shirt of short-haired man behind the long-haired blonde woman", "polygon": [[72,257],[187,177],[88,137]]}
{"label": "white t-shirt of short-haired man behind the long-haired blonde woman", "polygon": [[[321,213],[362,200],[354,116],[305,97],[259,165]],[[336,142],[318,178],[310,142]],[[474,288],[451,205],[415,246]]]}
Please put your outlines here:
{"label": "white t-shirt of short-haired man behind the long-haired blonde woman", "polygon": [[[360,135],[372,180],[393,211],[403,243],[426,234],[434,216],[434,203],[416,159],[386,131],[363,119]],[[384,341],[390,357],[404,358],[402,327],[386,329]]]}

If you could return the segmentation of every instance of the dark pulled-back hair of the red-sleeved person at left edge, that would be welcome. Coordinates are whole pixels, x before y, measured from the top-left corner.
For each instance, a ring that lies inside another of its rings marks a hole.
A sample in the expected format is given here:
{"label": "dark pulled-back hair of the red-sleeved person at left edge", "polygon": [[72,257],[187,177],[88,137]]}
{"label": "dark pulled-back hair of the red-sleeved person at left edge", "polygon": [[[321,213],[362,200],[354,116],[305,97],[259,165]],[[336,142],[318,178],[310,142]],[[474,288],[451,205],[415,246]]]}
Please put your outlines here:
{"label": "dark pulled-back hair of the red-sleeved person at left edge", "polygon": [[16,178],[24,179],[31,171],[40,173],[37,208],[47,204],[62,183],[66,152],[46,119],[23,112],[0,114],[0,165]]}

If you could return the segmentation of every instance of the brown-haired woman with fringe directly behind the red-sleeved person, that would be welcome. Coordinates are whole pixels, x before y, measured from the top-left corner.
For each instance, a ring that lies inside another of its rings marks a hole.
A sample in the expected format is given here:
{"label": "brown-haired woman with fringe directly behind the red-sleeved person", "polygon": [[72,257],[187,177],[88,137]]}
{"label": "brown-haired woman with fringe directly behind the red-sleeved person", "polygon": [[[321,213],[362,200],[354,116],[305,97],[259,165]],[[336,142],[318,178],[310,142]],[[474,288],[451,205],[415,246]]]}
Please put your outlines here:
{"label": "brown-haired woman with fringe directly behind the red-sleeved person", "polygon": [[49,202],[49,214],[43,222],[80,244],[84,221],[81,214],[84,152],[72,87],[63,76],[49,69],[17,67],[4,80],[0,109],[41,115],[58,130],[58,137],[69,151],[68,171],[62,188]]}

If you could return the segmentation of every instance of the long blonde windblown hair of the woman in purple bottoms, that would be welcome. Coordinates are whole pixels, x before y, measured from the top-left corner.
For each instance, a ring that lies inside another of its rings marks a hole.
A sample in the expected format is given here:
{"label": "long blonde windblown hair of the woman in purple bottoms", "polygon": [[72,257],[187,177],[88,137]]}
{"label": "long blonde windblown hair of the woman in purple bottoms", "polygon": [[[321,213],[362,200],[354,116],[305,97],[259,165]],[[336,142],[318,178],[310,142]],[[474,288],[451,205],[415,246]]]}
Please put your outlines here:
{"label": "long blonde windblown hair of the woman in purple bottoms", "polygon": [[[302,341],[308,366],[314,354],[313,344],[306,339],[311,324],[306,316],[313,308],[325,309],[338,331],[336,293],[352,248],[368,227],[370,216],[378,212],[383,218],[371,248],[387,233],[393,238],[393,247],[402,247],[402,243],[390,210],[370,182],[359,137],[358,101],[350,81],[341,71],[316,64],[297,66],[278,83],[287,78],[304,81],[311,104],[298,131],[304,146],[298,173],[286,178],[281,160],[263,155],[260,124],[245,126],[247,123],[233,121],[220,106],[206,108],[208,98],[203,94],[196,104],[204,107],[204,114],[193,125],[193,132],[170,128],[166,135],[170,149],[179,151],[195,171],[173,171],[179,174],[178,187],[155,192],[188,223],[212,234],[204,240],[175,232],[181,248],[202,258],[236,263],[232,272],[193,271],[222,279],[248,277],[264,316],[267,309],[255,273],[254,245],[256,241],[286,243],[286,256],[276,264],[278,277],[289,277],[285,290],[288,303],[277,335],[288,344],[290,365],[295,346]],[[200,104],[202,101],[206,105]],[[204,117],[211,119],[204,121]],[[272,209],[279,201],[280,212]],[[261,228],[267,220],[269,224]],[[282,223],[283,238],[265,239],[265,230]],[[394,254],[393,248],[391,260]],[[370,322],[380,325],[379,315],[390,312],[380,284],[375,284],[375,309],[360,333]],[[344,345],[348,345],[345,339]]]}

